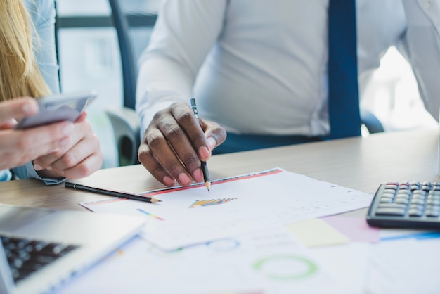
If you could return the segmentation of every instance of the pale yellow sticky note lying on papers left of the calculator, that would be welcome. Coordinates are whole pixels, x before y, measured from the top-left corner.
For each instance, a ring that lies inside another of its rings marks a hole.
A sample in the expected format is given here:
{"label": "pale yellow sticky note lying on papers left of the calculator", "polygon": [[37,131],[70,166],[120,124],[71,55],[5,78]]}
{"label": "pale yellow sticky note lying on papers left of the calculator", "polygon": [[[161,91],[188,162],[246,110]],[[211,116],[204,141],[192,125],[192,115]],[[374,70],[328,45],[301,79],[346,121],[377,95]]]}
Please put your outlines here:
{"label": "pale yellow sticky note lying on papers left of the calculator", "polygon": [[339,245],[349,242],[349,238],[341,234],[322,219],[306,219],[286,224],[285,228],[308,247]]}

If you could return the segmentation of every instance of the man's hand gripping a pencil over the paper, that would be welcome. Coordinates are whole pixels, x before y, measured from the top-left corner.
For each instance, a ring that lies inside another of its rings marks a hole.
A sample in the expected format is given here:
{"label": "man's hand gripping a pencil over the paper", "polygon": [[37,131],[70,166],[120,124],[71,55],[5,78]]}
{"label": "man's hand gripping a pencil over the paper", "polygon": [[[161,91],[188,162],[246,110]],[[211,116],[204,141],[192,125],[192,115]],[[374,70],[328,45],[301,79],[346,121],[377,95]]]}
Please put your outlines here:
{"label": "man's hand gripping a pencil over the paper", "polygon": [[166,186],[178,181],[188,186],[202,182],[200,161],[226,139],[226,131],[215,122],[195,119],[186,103],[174,103],[155,114],[145,131],[138,160],[153,177]]}

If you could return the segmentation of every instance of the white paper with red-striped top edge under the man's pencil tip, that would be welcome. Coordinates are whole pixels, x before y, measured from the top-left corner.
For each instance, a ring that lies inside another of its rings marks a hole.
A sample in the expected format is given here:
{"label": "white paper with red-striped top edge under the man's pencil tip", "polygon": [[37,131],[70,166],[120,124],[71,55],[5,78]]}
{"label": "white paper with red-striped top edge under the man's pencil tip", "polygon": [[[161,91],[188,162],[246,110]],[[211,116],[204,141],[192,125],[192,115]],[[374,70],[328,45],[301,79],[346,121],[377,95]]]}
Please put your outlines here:
{"label": "white paper with red-striped top edge under the man's pencil tip", "polygon": [[[212,182],[146,193],[162,200],[143,203],[111,198],[80,203],[95,212],[144,215],[143,236],[164,250],[301,219],[323,217],[368,207],[373,196],[280,168]],[[218,204],[195,205],[200,200]],[[222,202],[224,201],[224,202]]]}

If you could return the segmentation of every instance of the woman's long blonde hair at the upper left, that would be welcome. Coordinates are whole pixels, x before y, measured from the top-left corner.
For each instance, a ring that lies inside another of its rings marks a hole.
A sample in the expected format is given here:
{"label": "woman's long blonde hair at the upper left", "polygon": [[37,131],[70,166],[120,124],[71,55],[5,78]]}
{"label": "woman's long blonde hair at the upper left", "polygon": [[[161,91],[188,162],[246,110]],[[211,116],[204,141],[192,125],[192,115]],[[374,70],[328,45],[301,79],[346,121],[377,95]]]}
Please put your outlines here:
{"label": "woman's long blonde hair at the upper left", "polygon": [[[3,6],[3,7],[2,7]],[[50,93],[37,66],[37,33],[22,0],[0,0],[0,101]]]}

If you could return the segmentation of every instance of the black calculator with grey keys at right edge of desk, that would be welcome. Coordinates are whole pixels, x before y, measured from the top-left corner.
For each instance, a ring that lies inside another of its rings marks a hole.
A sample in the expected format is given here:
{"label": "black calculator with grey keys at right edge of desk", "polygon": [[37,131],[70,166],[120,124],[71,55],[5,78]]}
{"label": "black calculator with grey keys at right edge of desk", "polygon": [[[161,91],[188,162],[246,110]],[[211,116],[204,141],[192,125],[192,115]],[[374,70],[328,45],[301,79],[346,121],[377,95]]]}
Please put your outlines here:
{"label": "black calculator with grey keys at right edge of desk", "polygon": [[370,226],[440,229],[439,182],[380,184],[367,214]]}

